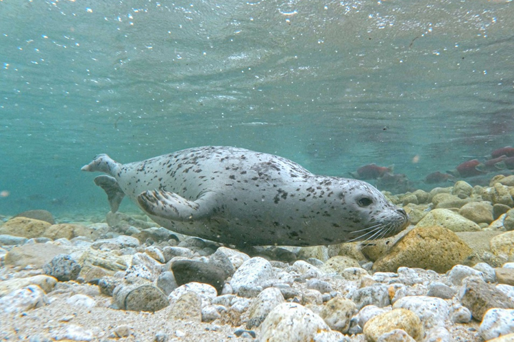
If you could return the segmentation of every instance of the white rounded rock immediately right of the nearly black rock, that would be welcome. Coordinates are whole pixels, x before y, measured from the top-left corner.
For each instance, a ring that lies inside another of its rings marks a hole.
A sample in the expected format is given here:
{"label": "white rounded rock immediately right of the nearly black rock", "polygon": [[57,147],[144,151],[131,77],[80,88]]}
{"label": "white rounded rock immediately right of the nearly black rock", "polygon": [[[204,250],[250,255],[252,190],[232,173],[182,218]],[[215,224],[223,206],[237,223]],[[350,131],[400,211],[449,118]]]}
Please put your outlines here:
{"label": "white rounded rock immediately right of the nearly black rock", "polygon": [[269,261],[261,257],[254,257],[245,261],[236,270],[230,280],[230,286],[232,286],[234,293],[238,293],[242,286],[259,286],[262,282],[271,278],[273,278],[273,267]]}

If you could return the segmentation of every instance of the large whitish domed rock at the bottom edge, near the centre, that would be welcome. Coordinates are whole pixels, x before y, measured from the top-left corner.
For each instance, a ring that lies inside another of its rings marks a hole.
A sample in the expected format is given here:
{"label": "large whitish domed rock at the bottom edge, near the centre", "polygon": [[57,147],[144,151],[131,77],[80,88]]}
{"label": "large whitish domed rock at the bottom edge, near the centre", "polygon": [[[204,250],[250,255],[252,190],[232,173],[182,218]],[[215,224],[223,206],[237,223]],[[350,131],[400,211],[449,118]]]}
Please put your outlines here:
{"label": "large whitish domed rock at the bottom edge, near the centre", "polygon": [[260,341],[267,342],[329,342],[343,339],[341,332],[330,330],[319,315],[296,303],[282,303],[273,308],[259,330]]}

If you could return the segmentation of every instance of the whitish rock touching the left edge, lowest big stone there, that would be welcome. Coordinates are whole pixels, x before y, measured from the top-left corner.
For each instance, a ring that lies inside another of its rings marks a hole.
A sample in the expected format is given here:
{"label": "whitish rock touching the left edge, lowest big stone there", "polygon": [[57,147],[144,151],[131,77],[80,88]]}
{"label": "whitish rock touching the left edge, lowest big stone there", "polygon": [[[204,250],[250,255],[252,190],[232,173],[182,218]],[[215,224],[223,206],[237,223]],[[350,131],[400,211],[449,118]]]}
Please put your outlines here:
{"label": "whitish rock touching the left edge, lowest big stone there", "polygon": [[29,285],[0,298],[0,311],[21,313],[46,304],[49,304],[49,300],[45,292],[37,285]]}

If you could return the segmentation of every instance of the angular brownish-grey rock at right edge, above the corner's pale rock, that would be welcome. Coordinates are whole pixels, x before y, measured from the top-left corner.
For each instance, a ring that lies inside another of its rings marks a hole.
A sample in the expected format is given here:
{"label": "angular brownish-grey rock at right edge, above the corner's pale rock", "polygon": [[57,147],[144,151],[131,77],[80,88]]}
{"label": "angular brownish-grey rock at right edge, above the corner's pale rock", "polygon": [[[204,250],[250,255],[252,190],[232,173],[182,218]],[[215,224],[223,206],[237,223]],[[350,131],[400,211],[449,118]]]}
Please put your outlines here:
{"label": "angular brownish-grey rock at right edge, above the corner's pale rock", "polygon": [[479,277],[464,280],[458,295],[463,306],[469,308],[473,318],[478,321],[482,321],[490,308],[514,308],[514,302],[505,293]]}

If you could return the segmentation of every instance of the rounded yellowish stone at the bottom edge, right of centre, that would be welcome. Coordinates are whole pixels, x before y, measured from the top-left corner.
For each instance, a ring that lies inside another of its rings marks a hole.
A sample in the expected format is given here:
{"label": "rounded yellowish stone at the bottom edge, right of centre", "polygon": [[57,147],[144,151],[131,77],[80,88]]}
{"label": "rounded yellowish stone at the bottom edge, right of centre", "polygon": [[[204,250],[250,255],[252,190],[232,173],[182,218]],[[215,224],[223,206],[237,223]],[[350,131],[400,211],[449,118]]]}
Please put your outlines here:
{"label": "rounded yellowish stone at the bottom edge, right of centre", "polygon": [[377,315],[364,325],[363,333],[369,342],[376,342],[382,334],[391,330],[402,329],[416,341],[424,337],[421,320],[412,311],[404,308],[393,309]]}

